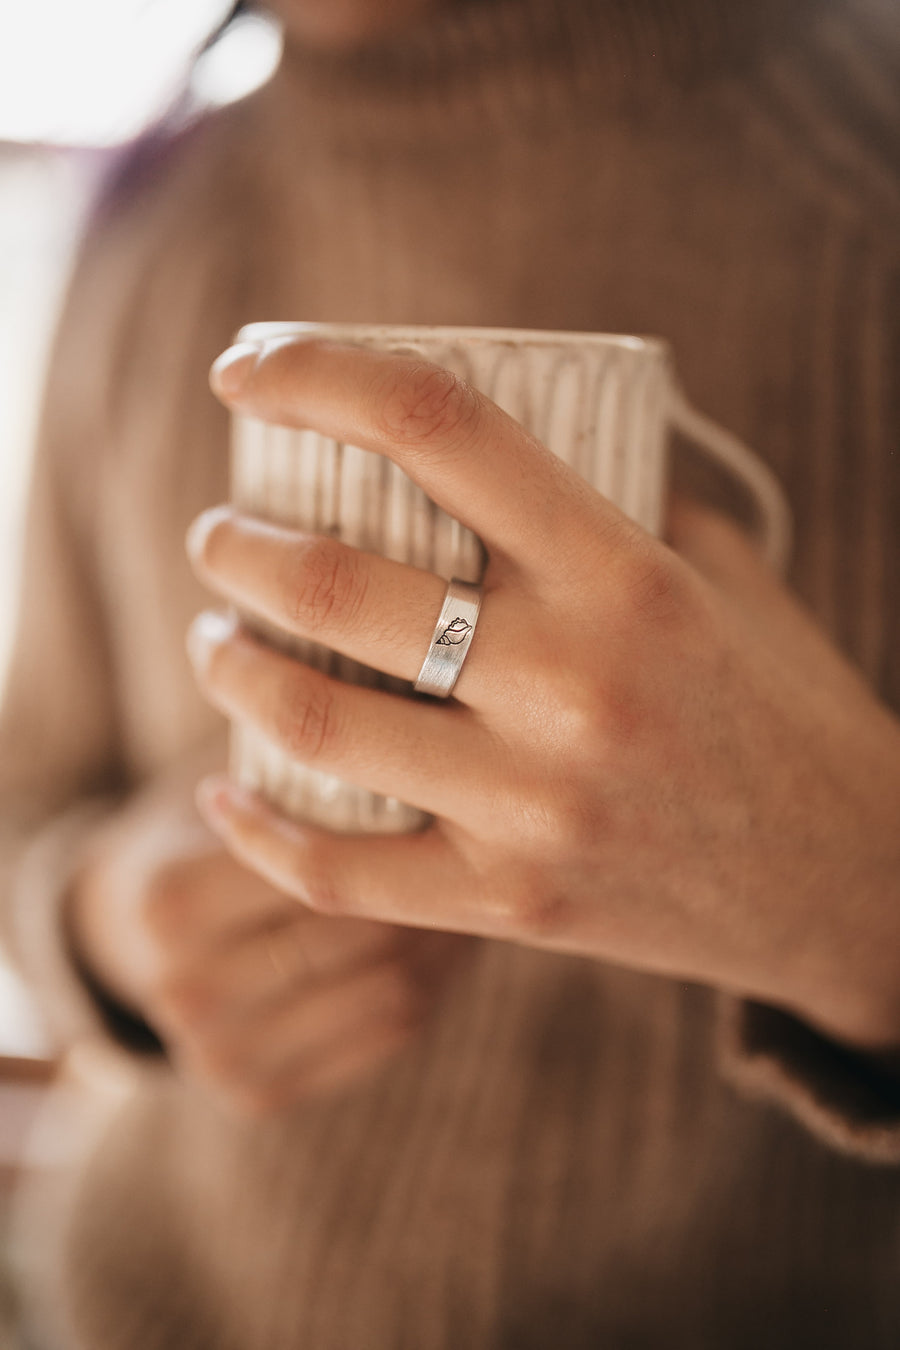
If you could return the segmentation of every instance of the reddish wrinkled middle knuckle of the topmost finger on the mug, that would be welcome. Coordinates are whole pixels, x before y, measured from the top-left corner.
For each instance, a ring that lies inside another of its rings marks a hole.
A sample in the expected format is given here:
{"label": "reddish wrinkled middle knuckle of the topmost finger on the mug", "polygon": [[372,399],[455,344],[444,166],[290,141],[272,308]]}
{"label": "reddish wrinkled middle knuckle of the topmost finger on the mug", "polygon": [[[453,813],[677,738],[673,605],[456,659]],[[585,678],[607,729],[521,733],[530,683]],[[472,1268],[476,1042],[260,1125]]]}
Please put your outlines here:
{"label": "reddish wrinkled middle knuckle of the topmost finger on the mug", "polygon": [[441,366],[407,367],[385,393],[381,420],[389,440],[407,446],[448,441],[471,429],[479,400],[471,385]]}

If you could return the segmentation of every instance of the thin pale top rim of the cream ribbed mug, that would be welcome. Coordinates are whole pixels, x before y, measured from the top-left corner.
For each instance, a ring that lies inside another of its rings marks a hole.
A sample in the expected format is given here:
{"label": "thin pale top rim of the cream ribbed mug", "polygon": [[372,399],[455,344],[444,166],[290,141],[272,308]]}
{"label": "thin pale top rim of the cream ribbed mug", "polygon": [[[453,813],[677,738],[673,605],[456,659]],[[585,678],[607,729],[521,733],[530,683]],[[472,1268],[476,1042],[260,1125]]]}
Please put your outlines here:
{"label": "thin pale top rim of the cream ribbed mug", "polygon": [[668,358],[671,344],[665,338],[645,336],[644,333],[606,333],[579,329],[556,328],[482,328],[468,324],[355,324],[355,323],[317,323],[316,320],[263,320],[243,324],[232,343],[239,342],[267,342],[275,338],[296,338],[332,335],[336,338],[349,338],[352,335],[375,338],[386,336],[394,342],[421,342],[421,340],[466,340],[468,343],[515,343],[515,346],[544,346],[555,347],[572,343],[595,347],[619,347],[631,352],[653,352],[657,356]]}

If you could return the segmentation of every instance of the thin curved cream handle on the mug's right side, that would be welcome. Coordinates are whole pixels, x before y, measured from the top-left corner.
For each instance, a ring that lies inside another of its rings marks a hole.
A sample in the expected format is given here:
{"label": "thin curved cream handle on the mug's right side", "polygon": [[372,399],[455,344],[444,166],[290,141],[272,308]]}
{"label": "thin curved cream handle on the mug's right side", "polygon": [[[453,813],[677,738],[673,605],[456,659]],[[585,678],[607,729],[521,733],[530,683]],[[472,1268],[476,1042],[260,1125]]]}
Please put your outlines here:
{"label": "thin curved cream handle on the mug's right side", "polygon": [[779,576],[785,576],[793,521],[784,487],[769,466],[733,432],[698,412],[677,383],[671,390],[669,423],[743,483],[756,502],[762,556]]}

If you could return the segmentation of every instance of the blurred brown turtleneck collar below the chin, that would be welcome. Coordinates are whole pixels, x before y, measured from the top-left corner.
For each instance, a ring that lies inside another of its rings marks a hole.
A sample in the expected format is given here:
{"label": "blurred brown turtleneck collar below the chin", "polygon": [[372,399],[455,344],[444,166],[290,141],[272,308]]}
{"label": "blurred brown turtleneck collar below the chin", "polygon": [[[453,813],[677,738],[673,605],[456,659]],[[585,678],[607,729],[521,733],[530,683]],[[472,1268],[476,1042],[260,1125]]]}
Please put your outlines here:
{"label": "blurred brown turtleneck collar below the chin", "polygon": [[[681,93],[752,62],[820,0],[439,0],[348,51],[287,40],[260,104],[305,144],[483,135],[497,119],[552,120],[572,99],[648,82]],[[312,122],[312,127],[309,123]]]}

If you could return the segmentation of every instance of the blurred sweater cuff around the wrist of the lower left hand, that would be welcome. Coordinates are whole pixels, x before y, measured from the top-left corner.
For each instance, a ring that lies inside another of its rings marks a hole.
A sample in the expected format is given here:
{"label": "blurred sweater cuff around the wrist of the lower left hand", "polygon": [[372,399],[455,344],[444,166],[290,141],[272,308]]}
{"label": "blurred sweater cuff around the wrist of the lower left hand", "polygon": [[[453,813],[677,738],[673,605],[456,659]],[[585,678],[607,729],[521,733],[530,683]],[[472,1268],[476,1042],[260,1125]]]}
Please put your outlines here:
{"label": "blurred sweater cuff around the wrist of the lower left hand", "polygon": [[51,1048],[62,1053],[93,1042],[121,1068],[123,1058],[159,1056],[155,1033],[115,1003],[77,961],[63,906],[94,829],[120,809],[121,798],[82,798],[54,815],[30,838],[12,882],[13,957],[32,987]]}

